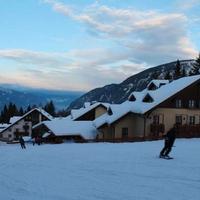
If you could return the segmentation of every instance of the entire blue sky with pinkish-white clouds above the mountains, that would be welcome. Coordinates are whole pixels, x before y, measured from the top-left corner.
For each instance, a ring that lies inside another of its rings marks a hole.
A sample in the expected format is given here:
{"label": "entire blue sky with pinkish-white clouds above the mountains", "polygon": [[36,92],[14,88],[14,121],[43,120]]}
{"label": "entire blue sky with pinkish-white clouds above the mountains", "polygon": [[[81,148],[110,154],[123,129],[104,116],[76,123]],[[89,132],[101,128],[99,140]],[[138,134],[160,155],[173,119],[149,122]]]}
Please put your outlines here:
{"label": "entire blue sky with pinkish-white clouds above the mountains", "polygon": [[200,51],[199,0],[0,0],[0,83],[88,91]]}

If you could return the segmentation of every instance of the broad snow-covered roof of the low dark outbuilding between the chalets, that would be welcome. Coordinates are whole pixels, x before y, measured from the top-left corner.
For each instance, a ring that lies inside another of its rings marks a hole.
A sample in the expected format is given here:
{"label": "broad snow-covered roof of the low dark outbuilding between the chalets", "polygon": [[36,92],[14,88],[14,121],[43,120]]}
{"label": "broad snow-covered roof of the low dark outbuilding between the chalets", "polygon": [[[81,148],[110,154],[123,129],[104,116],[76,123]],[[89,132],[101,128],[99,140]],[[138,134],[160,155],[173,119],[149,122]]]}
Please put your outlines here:
{"label": "broad snow-covered roof of the low dark outbuilding between the chalets", "polygon": [[95,139],[98,132],[92,121],[73,121],[56,118],[52,121],[44,121],[34,126],[33,129],[39,127],[41,124],[48,127],[56,136],[81,135],[84,139],[89,140]]}

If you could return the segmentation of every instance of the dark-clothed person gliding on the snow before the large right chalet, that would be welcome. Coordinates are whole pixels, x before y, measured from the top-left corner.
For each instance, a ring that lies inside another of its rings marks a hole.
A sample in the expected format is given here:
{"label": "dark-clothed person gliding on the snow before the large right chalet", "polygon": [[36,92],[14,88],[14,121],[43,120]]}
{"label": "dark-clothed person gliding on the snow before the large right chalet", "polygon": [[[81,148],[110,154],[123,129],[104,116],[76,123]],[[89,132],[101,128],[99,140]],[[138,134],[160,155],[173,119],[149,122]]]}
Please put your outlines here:
{"label": "dark-clothed person gliding on the snow before the large right chalet", "polygon": [[170,129],[164,137],[165,137],[165,145],[160,152],[160,158],[169,159],[169,158],[171,158],[171,157],[169,157],[169,153],[171,152],[172,146],[173,146],[174,141],[176,139],[175,127]]}

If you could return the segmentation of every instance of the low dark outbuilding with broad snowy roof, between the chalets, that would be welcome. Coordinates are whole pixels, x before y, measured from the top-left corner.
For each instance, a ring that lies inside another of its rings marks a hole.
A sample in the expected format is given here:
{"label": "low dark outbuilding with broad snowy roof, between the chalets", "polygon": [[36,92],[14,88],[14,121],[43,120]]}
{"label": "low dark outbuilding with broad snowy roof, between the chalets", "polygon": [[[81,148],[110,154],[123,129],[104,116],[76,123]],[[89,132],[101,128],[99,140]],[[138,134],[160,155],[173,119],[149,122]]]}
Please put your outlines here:
{"label": "low dark outbuilding with broad snowy roof, between the chalets", "polygon": [[94,141],[98,134],[92,121],[72,121],[69,118],[56,118],[44,121],[33,127],[32,137],[41,137],[47,143],[65,141]]}

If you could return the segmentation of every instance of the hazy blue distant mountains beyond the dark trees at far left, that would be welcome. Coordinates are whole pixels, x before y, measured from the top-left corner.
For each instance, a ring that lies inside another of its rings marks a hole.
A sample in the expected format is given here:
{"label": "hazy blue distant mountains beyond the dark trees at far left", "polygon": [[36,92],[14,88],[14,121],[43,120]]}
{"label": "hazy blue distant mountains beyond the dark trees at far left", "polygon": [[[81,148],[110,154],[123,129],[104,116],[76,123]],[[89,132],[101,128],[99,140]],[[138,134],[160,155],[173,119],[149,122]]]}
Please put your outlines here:
{"label": "hazy blue distant mountains beyond the dark trees at far left", "polygon": [[69,104],[80,97],[82,92],[32,89],[16,85],[0,84],[0,110],[5,104],[12,102],[18,107],[28,105],[41,106],[53,100],[56,109],[66,109]]}

